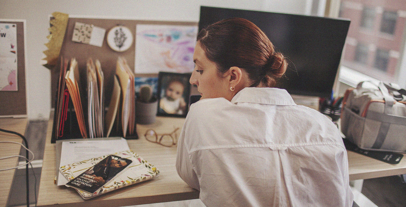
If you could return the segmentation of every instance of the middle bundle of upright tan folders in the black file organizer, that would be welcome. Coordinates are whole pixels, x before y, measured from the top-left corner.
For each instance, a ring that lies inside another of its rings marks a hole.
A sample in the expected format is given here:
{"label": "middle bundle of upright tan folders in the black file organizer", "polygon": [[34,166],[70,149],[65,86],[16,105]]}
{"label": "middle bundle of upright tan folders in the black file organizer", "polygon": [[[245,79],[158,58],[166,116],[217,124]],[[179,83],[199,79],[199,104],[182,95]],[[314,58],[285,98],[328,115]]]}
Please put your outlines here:
{"label": "middle bundle of upright tan folders in the black file organizer", "polygon": [[87,60],[87,103],[90,138],[103,137],[103,72],[99,60]]}

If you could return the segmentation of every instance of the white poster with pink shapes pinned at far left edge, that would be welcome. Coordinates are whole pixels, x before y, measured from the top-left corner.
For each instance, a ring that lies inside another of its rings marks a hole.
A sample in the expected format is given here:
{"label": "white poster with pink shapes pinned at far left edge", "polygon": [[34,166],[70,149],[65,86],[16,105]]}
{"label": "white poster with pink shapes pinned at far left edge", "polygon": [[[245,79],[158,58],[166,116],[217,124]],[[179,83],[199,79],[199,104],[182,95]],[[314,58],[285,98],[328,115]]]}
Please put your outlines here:
{"label": "white poster with pink shapes pinned at far left edge", "polygon": [[17,25],[0,23],[0,91],[17,88]]}

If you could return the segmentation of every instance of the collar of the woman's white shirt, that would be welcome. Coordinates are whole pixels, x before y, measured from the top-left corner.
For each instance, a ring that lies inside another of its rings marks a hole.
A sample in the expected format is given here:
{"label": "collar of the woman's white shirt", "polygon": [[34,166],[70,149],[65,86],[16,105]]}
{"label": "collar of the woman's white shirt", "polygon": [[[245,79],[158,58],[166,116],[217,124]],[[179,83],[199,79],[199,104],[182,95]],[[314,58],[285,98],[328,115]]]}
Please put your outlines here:
{"label": "collar of the woman's white shirt", "polygon": [[285,89],[246,87],[239,91],[231,103],[249,102],[271,105],[296,105]]}

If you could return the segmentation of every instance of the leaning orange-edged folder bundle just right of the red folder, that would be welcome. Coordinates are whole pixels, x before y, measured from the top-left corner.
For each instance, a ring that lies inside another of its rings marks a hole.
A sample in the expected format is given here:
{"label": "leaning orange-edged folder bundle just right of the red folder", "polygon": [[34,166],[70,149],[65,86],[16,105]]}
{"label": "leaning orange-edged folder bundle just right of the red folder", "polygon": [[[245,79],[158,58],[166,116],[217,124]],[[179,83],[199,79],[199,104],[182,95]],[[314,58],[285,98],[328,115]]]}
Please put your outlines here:
{"label": "leaning orange-edged folder bundle just right of the red folder", "polygon": [[73,102],[73,107],[75,108],[76,118],[78,119],[78,125],[80,129],[80,134],[83,138],[87,138],[86,126],[83,117],[82,101],[80,100],[79,92],[79,69],[78,62],[75,58],[72,58],[69,71],[66,72],[66,85],[69,90],[69,95]]}

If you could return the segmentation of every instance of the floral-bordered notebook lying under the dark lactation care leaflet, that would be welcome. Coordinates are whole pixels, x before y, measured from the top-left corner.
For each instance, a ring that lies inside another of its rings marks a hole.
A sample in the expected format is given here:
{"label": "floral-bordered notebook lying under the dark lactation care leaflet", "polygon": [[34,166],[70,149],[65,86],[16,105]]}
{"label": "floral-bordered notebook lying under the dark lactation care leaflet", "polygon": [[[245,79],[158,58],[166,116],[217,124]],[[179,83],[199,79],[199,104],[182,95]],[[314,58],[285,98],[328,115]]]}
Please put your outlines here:
{"label": "floral-bordered notebook lying under the dark lactation care leaflet", "polygon": [[[113,153],[111,155],[129,159],[132,160],[132,162],[120,174],[113,177],[110,181],[97,189],[93,194],[75,188],[75,190],[79,193],[80,196],[82,196],[82,198],[93,198],[100,194],[104,194],[112,190],[123,188],[127,185],[140,183],[142,181],[146,181],[159,176],[159,170],[155,166],[148,163],[146,160],[144,160],[131,150],[121,151]],[[104,155],[102,157],[91,158],[88,160],[68,164],[60,167],[59,171],[63,174],[63,176],[71,181],[72,179],[80,176],[86,170],[92,168],[93,166],[95,166],[95,164],[99,163],[109,156],[110,155]]]}

